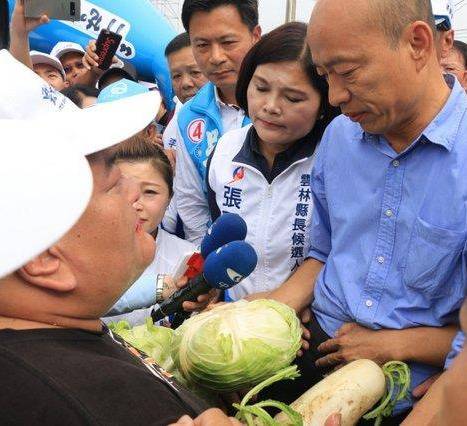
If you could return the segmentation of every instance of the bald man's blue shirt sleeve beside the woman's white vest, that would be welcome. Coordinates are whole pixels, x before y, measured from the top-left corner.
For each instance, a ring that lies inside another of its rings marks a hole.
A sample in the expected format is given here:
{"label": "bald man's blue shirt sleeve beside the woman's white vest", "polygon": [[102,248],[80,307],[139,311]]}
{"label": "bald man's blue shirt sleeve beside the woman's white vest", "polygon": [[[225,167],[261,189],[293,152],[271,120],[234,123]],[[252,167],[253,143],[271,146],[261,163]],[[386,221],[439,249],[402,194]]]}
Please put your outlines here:
{"label": "bald man's blue shirt sleeve beside the woman's white vest", "polygon": [[311,172],[313,214],[311,216],[310,250],[308,252],[308,257],[312,257],[323,263],[326,262],[331,252],[331,225],[324,176],[326,149],[328,145],[327,135],[329,135],[328,131],[323,135]]}

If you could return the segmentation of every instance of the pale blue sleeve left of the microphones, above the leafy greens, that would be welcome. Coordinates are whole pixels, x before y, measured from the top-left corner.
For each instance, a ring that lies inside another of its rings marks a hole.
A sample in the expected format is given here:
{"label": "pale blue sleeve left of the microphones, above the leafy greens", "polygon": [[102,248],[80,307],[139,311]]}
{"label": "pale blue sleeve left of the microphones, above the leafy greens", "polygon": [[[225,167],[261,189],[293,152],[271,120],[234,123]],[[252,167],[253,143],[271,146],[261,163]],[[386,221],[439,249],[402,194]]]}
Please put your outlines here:
{"label": "pale blue sleeve left of the microphones, above the leafy greens", "polygon": [[147,308],[156,303],[156,276],[144,272],[141,277],[123,294],[107,315],[118,315],[135,309]]}

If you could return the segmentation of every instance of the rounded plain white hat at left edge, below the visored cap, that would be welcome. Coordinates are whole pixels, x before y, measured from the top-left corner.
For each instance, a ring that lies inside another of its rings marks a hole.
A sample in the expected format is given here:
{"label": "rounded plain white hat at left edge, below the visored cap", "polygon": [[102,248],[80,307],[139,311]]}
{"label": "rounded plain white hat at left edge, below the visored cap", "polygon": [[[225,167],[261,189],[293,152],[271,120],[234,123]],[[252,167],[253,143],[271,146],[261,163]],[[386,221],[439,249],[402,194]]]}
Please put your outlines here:
{"label": "rounded plain white hat at left edge, below the visored cap", "polygon": [[58,241],[92,193],[86,159],[54,129],[0,120],[0,278]]}

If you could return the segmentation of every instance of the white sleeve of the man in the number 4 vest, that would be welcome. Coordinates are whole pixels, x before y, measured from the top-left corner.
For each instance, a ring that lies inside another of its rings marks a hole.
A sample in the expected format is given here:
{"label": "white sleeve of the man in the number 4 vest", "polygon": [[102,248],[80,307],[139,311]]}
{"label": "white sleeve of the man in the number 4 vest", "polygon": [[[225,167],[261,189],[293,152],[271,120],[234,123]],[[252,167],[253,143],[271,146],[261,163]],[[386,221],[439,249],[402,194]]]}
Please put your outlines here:
{"label": "white sleeve of the man in the number 4 vest", "polygon": [[208,200],[201,177],[193,163],[177,125],[177,162],[174,192],[177,211],[183,221],[185,238],[198,245],[210,220]]}

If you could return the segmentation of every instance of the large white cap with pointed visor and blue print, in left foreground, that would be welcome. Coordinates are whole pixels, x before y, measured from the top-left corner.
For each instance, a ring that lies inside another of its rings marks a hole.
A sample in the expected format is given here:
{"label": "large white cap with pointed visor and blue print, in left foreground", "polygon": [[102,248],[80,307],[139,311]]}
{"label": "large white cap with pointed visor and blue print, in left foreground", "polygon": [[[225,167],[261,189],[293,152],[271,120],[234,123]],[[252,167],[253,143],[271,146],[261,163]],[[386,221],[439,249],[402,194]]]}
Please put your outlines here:
{"label": "large white cap with pointed visor and blue print, in left foreground", "polygon": [[154,120],[161,103],[160,94],[151,91],[79,109],[6,50],[0,51],[0,93],[0,119],[38,120],[60,132],[64,144],[76,144],[84,155],[143,130]]}

